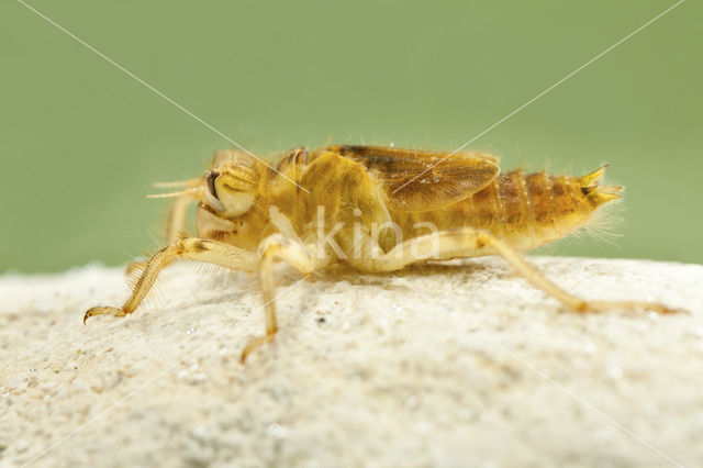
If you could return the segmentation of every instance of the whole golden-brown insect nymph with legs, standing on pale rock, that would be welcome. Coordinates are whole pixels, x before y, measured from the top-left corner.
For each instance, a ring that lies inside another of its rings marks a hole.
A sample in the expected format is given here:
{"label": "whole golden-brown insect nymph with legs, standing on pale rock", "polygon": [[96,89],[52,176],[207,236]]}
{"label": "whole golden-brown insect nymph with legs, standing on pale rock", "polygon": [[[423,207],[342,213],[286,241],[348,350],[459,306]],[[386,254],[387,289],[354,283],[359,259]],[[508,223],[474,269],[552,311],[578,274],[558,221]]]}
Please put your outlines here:
{"label": "whole golden-brown insect nymph with legs, standing on pale rock", "polygon": [[[276,168],[237,151],[215,154],[199,178],[161,185],[182,191],[171,209],[168,245],[136,264],[132,296],[122,308],[93,315],[133,313],[158,271],[192,259],[258,272],[266,335],[277,331],[272,264],[303,274],[342,261],[361,271],[394,271],[424,260],[501,255],[533,286],[579,312],[606,309],[674,312],[650,302],[587,301],[545,278],[518,250],[563,237],[590,220],[621,187],[599,185],[605,166],[582,177],[500,175],[498,158],[480,153],[432,153],[377,146],[328,146],[286,154]],[[186,210],[198,201],[198,237],[179,236]]]}

